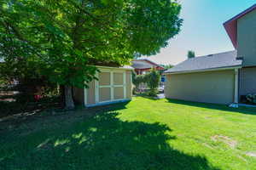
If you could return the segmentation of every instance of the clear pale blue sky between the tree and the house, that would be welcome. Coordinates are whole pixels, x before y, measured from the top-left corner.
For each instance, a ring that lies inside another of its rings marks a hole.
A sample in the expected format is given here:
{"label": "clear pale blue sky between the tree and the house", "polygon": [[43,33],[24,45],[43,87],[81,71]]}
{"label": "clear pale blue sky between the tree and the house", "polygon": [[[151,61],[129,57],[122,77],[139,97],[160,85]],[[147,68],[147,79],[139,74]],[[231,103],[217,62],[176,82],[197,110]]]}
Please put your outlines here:
{"label": "clear pale blue sky between the tree and the house", "polygon": [[[251,7],[256,0],[179,0],[182,4],[182,31],[169,41],[160,54],[148,59],[158,64],[176,65],[187,59],[188,50],[196,56],[234,50],[223,23]],[[144,58],[144,57],[143,57]]]}

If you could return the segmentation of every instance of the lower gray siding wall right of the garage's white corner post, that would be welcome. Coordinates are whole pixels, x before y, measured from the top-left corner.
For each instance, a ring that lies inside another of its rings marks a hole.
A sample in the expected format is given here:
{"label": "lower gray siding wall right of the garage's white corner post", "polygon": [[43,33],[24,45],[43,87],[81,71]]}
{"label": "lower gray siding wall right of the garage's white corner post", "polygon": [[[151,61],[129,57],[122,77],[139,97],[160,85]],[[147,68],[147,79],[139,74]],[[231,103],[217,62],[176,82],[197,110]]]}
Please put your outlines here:
{"label": "lower gray siding wall right of the garage's white corner post", "polygon": [[239,94],[256,94],[256,66],[241,68]]}

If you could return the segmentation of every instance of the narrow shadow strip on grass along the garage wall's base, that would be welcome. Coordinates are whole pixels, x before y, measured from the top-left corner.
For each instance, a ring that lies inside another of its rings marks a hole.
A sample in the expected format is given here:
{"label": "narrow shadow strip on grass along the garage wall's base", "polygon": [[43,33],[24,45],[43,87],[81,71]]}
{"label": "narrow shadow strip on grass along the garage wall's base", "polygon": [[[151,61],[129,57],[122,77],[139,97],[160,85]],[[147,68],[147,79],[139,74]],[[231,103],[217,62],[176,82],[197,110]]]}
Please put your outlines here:
{"label": "narrow shadow strip on grass along the garage wall's base", "polygon": [[184,101],[184,100],[179,100],[179,99],[167,99],[167,102],[173,103],[173,104],[178,104],[178,105],[190,105],[190,106],[195,106],[195,107],[214,109],[214,110],[219,110],[219,111],[232,111],[232,112],[238,112],[238,113],[242,113],[242,114],[256,116],[256,108],[250,108],[250,107],[230,108],[227,105],[207,104],[207,103]]}

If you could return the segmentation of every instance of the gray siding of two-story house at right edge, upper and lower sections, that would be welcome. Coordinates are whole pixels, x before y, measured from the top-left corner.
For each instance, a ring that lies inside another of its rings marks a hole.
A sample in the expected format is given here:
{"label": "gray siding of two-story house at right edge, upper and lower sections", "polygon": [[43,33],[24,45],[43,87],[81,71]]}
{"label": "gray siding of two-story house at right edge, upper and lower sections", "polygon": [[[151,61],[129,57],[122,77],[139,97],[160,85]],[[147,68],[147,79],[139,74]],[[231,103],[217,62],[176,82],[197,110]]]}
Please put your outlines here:
{"label": "gray siding of two-story house at right edge, upper and lower sections", "polygon": [[243,57],[239,95],[256,94],[256,10],[237,20],[237,56]]}

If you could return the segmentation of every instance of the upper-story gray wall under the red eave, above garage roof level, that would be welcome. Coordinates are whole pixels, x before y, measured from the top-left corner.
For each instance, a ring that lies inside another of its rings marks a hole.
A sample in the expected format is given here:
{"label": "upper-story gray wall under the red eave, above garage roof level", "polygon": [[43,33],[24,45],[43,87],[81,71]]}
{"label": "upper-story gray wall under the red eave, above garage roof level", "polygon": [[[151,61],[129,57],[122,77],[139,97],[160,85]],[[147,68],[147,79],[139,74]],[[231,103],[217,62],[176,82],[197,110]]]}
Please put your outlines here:
{"label": "upper-story gray wall under the red eave, above garage roof level", "polygon": [[237,20],[237,56],[243,66],[256,65],[256,10]]}

